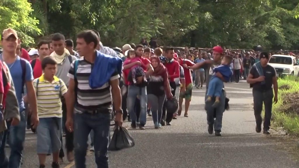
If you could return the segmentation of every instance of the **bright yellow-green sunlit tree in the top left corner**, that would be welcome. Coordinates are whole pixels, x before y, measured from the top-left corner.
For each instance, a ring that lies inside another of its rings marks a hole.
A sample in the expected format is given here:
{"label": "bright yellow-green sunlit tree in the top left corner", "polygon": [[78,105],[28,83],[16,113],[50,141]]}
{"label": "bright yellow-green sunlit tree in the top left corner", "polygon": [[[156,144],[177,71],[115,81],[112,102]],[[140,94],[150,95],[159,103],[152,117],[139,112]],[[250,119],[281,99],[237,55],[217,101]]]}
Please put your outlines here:
{"label": "bright yellow-green sunlit tree in the top left corner", "polygon": [[30,17],[32,11],[31,4],[27,0],[1,0],[0,31],[13,28],[22,39],[23,45],[30,45],[34,42],[33,35],[42,33],[37,27],[39,21]]}

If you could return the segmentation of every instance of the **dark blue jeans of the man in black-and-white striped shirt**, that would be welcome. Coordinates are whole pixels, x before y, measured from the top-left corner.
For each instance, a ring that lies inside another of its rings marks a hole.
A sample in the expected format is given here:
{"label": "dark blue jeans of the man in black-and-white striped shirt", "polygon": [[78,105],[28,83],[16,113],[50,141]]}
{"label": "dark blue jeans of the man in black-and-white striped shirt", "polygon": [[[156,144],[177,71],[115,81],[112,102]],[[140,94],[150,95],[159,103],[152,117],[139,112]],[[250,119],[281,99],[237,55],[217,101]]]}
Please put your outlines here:
{"label": "dark blue jeans of the man in black-and-white striped shirt", "polygon": [[88,135],[94,132],[94,156],[97,168],[109,168],[108,143],[111,113],[74,115],[74,152],[76,168],[86,168]]}

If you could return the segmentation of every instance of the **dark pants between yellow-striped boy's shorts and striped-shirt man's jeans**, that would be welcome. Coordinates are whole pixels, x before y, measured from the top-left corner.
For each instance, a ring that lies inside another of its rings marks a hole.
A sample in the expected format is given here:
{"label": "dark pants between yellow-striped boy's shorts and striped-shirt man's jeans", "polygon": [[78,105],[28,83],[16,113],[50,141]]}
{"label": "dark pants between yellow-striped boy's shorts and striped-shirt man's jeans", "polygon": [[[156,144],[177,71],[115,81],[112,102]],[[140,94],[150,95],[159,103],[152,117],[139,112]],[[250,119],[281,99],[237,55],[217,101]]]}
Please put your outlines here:
{"label": "dark pants between yellow-striped boy's shorts and striped-shirt man's jeans", "polygon": [[[65,120],[66,119],[66,104],[65,104],[65,100],[62,100],[62,126],[65,127]],[[65,128],[65,148],[67,152],[71,152],[74,150],[74,133],[73,132],[69,132],[68,129]],[[59,151],[59,157],[63,158],[64,157],[64,152],[63,152],[63,148],[62,148],[62,135],[60,137],[60,141],[61,141],[61,148]]]}

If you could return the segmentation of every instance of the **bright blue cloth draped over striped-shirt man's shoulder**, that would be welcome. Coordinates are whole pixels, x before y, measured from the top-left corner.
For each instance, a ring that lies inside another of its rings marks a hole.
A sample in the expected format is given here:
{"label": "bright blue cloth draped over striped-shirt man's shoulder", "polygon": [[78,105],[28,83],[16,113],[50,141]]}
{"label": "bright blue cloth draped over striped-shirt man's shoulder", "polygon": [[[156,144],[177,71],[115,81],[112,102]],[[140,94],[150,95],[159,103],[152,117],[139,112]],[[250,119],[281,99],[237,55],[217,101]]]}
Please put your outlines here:
{"label": "bright blue cloth draped over striped-shirt man's shoulder", "polygon": [[89,86],[92,89],[100,88],[110,80],[111,75],[118,71],[122,74],[123,60],[119,57],[113,57],[96,51],[91,74],[89,76]]}

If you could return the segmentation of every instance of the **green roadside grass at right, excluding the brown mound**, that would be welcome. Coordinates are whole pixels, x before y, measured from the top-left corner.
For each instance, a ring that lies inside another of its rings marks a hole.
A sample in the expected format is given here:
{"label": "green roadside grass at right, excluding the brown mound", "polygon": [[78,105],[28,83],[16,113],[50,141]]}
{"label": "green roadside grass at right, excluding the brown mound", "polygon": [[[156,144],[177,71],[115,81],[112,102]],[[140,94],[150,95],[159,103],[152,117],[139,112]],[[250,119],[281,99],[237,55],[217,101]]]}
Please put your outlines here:
{"label": "green roadside grass at right, excluding the brown mound", "polygon": [[[297,77],[285,77],[278,79],[278,88],[282,85],[289,85],[289,90],[278,89],[278,102],[273,104],[273,126],[284,127],[289,134],[299,135],[299,116],[295,114],[285,113],[284,107],[290,106],[289,104],[283,104],[283,99],[286,94],[299,93],[299,80]],[[298,102],[299,103],[299,102]]]}

